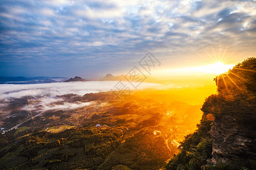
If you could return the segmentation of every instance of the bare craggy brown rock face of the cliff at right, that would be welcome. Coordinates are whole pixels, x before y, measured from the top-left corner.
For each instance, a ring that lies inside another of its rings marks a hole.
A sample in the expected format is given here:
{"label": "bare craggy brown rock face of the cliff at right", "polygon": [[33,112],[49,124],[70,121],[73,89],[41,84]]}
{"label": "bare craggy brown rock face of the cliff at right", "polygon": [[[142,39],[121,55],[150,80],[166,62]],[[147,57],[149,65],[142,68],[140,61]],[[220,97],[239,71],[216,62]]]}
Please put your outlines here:
{"label": "bare craggy brown rock face of the cliff at right", "polygon": [[229,164],[243,160],[256,160],[255,120],[237,121],[233,116],[222,116],[213,121],[209,131],[212,159],[208,162]]}

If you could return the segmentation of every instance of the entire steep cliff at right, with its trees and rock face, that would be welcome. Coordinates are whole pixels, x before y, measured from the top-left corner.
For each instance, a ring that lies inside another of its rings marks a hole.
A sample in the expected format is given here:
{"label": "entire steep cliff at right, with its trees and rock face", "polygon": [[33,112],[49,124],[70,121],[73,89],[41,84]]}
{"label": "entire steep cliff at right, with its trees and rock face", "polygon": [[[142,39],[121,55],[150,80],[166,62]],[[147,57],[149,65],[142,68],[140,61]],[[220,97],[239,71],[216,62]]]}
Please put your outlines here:
{"label": "entire steep cliff at right, with its trees and rock face", "polygon": [[248,58],[214,79],[218,92],[205,100],[198,130],[185,137],[166,169],[256,167],[255,72],[256,58]]}

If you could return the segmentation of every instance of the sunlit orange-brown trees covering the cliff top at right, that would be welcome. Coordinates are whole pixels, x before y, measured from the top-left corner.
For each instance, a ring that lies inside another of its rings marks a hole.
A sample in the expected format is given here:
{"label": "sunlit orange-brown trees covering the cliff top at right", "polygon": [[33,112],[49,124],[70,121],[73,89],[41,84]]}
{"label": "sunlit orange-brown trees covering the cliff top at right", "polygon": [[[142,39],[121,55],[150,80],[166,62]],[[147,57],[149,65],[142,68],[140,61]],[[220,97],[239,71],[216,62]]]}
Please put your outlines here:
{"label": "sunlit orange-brown trees covering the cliff top at right", "polygon": [[205,114],[230,114],[236,120],[256,118],[256,58],[247,58],[214,80],[218,93],[205,100],[201,109]]}

